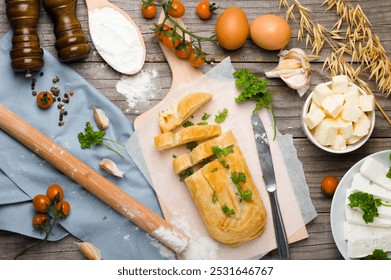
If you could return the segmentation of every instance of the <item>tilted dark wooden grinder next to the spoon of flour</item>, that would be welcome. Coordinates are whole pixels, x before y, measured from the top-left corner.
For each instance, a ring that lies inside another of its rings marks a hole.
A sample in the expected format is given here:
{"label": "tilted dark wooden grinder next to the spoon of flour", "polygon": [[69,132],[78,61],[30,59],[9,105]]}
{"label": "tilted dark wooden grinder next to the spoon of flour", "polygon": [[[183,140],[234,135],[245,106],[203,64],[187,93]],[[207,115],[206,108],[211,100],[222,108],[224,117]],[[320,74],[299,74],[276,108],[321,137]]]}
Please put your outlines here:
{"label": "tilted dark wooden grinder next to the spoon of flour", "polygon": [[54,21],[58,58],[69,62],[86,57],[90,46],[76,17],[77,0],[42,0],[42,4]]}

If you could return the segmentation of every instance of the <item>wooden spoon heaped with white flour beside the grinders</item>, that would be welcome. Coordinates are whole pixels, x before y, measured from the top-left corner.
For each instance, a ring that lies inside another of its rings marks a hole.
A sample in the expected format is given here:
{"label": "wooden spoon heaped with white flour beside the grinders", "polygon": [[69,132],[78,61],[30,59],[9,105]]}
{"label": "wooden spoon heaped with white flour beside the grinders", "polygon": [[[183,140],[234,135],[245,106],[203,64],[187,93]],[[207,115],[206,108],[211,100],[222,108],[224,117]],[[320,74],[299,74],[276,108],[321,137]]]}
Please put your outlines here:
{"label": "wooden spoon heaped with white flour beside the grinders", "polygon": [[100,56],[116,71],[133,75],[145,62],[146,49],[133,19],[107,0],[85,0],[92,42]]}

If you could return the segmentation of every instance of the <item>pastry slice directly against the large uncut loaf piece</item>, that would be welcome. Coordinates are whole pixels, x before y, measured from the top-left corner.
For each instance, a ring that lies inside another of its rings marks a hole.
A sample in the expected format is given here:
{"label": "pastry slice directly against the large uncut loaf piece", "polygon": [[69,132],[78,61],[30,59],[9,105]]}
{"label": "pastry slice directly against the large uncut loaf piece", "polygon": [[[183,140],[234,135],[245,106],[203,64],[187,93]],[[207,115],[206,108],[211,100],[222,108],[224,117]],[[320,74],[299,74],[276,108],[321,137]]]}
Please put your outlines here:
{"label": "pastry slice directly against the large uncut loaf piece", "polygon": [[219,148],[226,148],[236,143],[236,138],[232,131],[229,130],[219,137],[208,140],[199,144],[190,153],[182,154],[172,161],[172,166],[175,174],[179,174],[182,171],[200,163],[202,160],[209,158],[213,155],[212,147],[217,146]]}

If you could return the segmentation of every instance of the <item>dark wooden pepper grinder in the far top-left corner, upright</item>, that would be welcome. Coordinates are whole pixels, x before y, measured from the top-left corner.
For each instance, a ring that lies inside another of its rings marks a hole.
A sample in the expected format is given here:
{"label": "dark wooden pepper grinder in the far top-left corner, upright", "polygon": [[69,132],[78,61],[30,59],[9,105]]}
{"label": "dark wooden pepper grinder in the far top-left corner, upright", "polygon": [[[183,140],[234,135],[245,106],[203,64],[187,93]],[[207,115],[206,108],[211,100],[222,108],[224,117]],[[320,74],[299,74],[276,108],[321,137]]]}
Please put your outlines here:
{"label": "dark wooden pepper grinder in the far top-left corner, upright", "polygon": [[6,14],[13,36],[11,67],[15,72],[29,74],[43,66],[43,50],[39,45],[36,26],[39,0],[5,0]]}

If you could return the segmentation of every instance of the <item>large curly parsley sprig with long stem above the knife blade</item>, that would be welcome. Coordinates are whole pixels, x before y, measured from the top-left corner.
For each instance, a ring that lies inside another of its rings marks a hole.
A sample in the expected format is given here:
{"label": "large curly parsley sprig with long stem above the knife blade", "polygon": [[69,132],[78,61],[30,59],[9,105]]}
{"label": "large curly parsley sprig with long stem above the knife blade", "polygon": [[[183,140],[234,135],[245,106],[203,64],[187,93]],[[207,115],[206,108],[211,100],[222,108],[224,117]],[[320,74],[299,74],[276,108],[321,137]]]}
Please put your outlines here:
{"label": "large curly parsley sprig with long stem above the knife blade", "polygon": [[235,101],[238,103],[242,103],[246,100],[255,101],[256,103],[253,112],[258,111],[261,108],[269,109],[273,116],[275,138],[277,128],[272,107],[273,93],[267,88],[268,80],[257,77],[250,73],[248,69],[236,70],[233,73],[233,76],[236,78],[236,88],[241,90],[241,93],[235,98]]}

